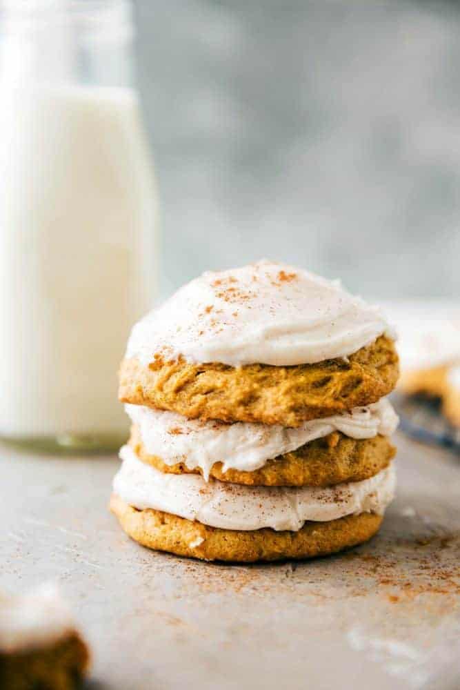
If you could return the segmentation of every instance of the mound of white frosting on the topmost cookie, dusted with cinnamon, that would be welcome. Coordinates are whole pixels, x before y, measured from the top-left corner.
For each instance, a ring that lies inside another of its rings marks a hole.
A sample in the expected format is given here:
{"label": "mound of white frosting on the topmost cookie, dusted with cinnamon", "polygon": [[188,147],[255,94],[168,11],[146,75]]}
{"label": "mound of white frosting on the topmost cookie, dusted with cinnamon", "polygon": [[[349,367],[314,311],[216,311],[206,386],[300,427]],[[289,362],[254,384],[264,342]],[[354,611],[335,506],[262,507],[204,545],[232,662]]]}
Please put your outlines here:
{"label": "mound of white frosting on the topmost cookie, dusted with cinnamon", "polygon": [[261,261],[203,273],[132,329],[126,357],[243,366],[346,357],[388,330],[377,307],[339,282]]}

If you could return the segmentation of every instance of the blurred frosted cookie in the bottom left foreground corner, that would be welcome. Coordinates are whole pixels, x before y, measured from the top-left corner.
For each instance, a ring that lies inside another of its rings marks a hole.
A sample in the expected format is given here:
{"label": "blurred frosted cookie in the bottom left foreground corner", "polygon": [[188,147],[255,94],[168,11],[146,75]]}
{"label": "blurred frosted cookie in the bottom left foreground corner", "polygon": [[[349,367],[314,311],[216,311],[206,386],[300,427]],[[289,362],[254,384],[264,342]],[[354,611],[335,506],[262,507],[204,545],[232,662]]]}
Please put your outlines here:
{"label": "blurred frosted cookie in the bottom left foreground corner", "polygon": [[89,653],[56,588],[0,595],[0,688],[73,690]]}

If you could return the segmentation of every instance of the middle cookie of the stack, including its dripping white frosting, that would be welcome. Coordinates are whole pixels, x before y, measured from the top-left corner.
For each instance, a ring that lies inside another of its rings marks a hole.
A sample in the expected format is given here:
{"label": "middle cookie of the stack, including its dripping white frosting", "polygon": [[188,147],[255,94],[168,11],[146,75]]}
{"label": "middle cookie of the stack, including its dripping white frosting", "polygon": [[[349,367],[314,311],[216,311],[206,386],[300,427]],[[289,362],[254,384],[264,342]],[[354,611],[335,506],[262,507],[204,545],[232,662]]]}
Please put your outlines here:
{"label": "middle cookie of the stack, including its dripping white frosting", "polygon": [[188,420],[134,405],[126,411],[133,422],[130,446],[143,462],[165,473],[264,486],[328,486],[372,477],[394,456],[388,437],[399,421],[386,399],[297,428]]}

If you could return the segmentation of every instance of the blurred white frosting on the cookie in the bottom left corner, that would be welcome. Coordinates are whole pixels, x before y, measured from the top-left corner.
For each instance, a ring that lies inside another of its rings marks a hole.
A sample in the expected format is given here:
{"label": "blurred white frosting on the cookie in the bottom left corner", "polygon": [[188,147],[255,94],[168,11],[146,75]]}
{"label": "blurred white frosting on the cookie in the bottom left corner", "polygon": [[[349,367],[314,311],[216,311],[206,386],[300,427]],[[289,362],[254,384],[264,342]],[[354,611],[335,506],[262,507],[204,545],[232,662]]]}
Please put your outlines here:
{"label": "blurred white frosting on the cookie in the bottom left corner", "polygon": [[46,647],[74,630],[74,620],[53,584],[26,595],[0,595],[0,651]]}

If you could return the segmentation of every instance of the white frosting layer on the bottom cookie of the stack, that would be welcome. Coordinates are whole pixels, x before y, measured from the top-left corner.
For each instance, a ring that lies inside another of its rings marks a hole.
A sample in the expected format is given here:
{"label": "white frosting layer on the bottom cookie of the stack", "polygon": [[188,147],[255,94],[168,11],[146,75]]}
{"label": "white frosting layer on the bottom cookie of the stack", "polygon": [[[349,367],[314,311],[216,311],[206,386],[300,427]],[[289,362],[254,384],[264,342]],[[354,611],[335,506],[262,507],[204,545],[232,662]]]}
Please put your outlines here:
{"label": "white frosting layer on the bottom cookie of the stack", "polygon": [[152,508],[221,529],[298,531],[306,520],[337,520],[344,515],[383,513],[394,496],[393,466],[362,482],[313,486],[243,486],[201,475],[165,474],[141,462],[129,446],[115,475],[114,492],[137,509]]}

